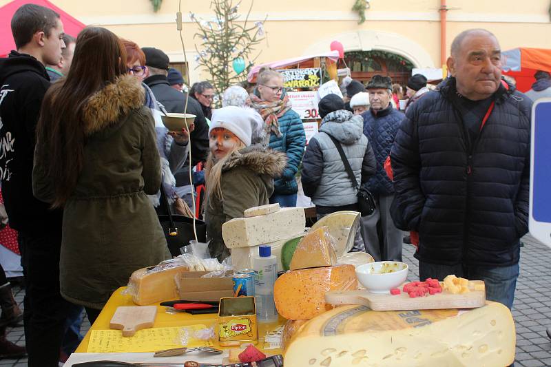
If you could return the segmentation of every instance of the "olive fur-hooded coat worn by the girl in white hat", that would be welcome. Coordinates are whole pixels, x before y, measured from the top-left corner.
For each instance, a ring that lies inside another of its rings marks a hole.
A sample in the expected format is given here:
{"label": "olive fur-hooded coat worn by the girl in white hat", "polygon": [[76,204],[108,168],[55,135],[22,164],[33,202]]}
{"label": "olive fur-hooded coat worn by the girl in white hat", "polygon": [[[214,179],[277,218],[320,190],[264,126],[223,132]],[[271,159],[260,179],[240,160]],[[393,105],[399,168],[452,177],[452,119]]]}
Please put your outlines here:
{"label": "olive fur-hooded coat worn by the girl in white hat", "polygon": [[229,256],[222,239],[222,224],[242,218],[243,211],[269,204],[273,178],[281,176],[287,165],[283,152],[247,147],[236,151],[222,167],[222,199],[213,193],[205,204],[205,222],[211,257],[222,261]]}

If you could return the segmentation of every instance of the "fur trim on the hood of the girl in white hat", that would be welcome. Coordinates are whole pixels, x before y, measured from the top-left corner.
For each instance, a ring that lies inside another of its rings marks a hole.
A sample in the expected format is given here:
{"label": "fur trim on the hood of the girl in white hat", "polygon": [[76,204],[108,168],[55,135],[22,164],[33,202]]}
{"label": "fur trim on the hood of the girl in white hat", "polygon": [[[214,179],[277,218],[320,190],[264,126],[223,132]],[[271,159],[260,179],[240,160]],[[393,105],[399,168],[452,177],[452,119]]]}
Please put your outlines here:
{"label": "fur trim on the hood of the girl in white hat", "polygon": [[253,145],[233,152],[222,167],[222,171],[245,166],[258,174],[266,174],[275,178],[281,176],[286,165],[287,155],[282,151],[264,150],[258,145]]}

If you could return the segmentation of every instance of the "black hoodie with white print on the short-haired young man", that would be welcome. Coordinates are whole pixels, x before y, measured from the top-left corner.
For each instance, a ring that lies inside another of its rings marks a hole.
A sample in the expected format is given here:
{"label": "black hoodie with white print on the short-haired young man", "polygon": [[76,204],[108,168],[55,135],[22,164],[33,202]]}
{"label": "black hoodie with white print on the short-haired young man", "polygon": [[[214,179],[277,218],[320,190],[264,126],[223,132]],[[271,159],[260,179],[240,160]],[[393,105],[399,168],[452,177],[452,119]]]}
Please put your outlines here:
{"label": "black hoodie with white print on the short-haired young man", "polygon": [[50,78],[44,65],[12,51],[0,59],[0,178],[10,227],[37,235],[61,230],[62,211],[32,195],[32,159],[40,107]]}

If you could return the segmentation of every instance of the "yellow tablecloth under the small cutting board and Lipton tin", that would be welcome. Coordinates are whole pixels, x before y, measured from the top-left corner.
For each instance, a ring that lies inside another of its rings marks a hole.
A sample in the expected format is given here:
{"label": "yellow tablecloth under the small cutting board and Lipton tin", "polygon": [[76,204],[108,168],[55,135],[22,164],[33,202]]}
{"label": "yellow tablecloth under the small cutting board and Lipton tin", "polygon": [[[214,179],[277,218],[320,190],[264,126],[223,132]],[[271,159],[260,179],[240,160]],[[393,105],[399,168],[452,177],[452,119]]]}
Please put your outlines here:
{"label": "yellow tablecloth under the small cutting board and Lipton tin", "polygon": [[[79,345],[79,348],[76,348],[75,353],[86,353],[92,330],[109,329],[109,323],[118,306],[136,306],[136,304],[132,302],[132,296],[123,294],[123,291],[125,289],[126,287],[121,287],[111,295],[109,301],[107,301],[107,304],[105,304],[105,307],[101,311],[99,317],[96,319],[96,322],[94,322],[90,330],[86,333],[83,341]],[[218,315],[216,313],[210,313],[205,315],[191,315],[189,313],[176,313],[171,315],[165,312],[166,309],[167,308],[165,306],[157,305],[157,316],[155,319],[154,327],[162,328],[162,327],[170,327],[170,326],[189,326],[194,324],[205,324],[209,326],[211,324],[216,324],[217,325],[216,333],[218,333]],[[263,350],[264,335],[266,335],[268,331],[271,331],[274,328],[276,328],[278,325],[284,324],[285,321],[286,321],[285,319],[282,319],[280,317],[280,320],[275,323],[271,323],[271,324],[259,323],[258,324],[259,342],[258,342],[257,348],[259,348],[260,350]],[[214,346],[215,348],[227,349],[227,348],[220,347],[220,345],[218,344],[218,339],[214,339]],[[267,353],[269,355],[280,354],[281,350],[280,349],[264,350],[264,353]]]}

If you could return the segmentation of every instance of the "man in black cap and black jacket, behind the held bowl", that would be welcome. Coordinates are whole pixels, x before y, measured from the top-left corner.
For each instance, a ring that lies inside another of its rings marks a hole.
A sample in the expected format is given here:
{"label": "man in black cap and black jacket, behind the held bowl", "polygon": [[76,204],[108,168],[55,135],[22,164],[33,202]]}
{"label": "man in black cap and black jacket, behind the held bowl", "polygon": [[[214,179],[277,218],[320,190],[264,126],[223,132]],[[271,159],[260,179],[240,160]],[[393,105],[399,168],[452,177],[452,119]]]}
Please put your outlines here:
{"label": "man in black cap and black jacket, behind the held bowl", "polygon": [[[167,112],[183,114],[186,94],[178,92],[168,83],[169,57],[157,48],[145,47],[142,51],[145,54],[147,66],[147,76],[143,82],[151,88],[155,98],[167,109]],[[209,155],[209,125],[199,103],[194,98],[188,98],[186,112],[196,116],[195,129],[190,133],[193,160],[191,167],[193,167],[198,162],[207,160]],[[192,207],[194,186],[193,182],[189,182],[189,162],[186,161],[185,165],[174,174],[174,178],[176,178],[176,193],[189,207]]]}

